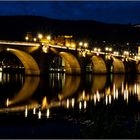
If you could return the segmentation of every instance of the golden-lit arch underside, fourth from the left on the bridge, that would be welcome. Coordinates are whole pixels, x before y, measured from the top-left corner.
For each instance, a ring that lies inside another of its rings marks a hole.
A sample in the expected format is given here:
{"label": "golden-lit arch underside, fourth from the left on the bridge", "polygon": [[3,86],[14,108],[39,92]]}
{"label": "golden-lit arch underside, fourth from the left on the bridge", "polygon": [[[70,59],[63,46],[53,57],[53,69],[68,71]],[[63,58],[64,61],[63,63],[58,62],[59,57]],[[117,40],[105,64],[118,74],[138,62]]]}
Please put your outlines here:
{"label": "golden-lit arch underside, fourth from the left on the bridge", "polygon": [[112,68],[111,72],[113,73],[125,73],[125,66],[124,63],[118,59],[112,56]]}

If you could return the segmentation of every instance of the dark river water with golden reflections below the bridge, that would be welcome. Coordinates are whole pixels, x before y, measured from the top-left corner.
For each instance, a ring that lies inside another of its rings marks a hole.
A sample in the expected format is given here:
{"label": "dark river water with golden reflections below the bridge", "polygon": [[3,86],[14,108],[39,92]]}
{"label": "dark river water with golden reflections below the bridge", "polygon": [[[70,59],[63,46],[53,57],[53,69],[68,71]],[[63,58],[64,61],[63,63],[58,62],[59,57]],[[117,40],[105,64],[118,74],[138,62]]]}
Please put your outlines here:
{"label": "dark river water with golden reflections below the bridge", "polygon": [[0,138],[140,138],[140,75],[0,73]]}

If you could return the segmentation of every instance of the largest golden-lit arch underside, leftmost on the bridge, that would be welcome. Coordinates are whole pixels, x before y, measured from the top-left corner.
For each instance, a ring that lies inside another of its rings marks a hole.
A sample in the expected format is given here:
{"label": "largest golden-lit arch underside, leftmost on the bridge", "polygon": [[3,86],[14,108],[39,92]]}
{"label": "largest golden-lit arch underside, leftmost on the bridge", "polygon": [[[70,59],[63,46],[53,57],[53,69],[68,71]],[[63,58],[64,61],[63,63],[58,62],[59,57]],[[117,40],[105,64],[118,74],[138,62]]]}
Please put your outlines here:
{"label": "largest golden-lit arch underside, leftmost on the bridge", "polygon": [[21,50],[11,49],[11,48],[7,48],[7,51],[16,55],[17,58],[21,61],[21,63],[23,64],[25,68],[26,75],[39,75],[40,74],[39,66],[30,54]]}

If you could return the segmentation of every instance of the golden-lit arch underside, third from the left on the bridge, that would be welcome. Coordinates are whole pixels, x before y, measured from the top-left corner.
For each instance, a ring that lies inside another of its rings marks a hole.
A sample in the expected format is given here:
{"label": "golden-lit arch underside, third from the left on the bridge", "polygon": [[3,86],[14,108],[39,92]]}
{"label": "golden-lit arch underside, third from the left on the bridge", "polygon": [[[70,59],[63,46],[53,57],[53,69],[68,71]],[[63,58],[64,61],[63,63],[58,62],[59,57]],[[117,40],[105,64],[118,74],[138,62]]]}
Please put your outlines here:
{"label": "golden-lit arch underside, third from the left on the bridge", "polygon": [[105,74],[107,73],[106,63],[100,56],[92,56],[92,73]]}

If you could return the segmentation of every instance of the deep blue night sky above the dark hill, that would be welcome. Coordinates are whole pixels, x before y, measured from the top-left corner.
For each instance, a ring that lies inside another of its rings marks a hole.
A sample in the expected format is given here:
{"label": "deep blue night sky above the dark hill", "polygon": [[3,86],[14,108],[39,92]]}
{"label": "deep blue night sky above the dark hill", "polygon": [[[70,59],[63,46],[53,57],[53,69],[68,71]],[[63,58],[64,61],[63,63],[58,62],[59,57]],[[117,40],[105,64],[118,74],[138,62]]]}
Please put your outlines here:
{"label": "deep blue night sky above the dark hill", "polygon": [[0,1],[0,15],[139,24],[140,1]]}

